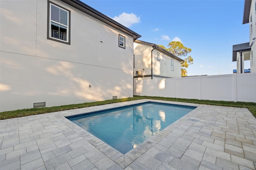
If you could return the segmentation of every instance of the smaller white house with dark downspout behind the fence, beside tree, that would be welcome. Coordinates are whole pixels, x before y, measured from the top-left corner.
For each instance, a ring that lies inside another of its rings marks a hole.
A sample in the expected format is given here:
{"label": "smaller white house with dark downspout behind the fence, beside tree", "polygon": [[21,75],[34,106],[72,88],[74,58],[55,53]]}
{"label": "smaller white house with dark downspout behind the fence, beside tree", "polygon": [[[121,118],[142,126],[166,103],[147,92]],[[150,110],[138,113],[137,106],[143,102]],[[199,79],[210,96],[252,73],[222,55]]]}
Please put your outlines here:
{"label": "smaller white house with dark downspout behind the fence, beside tree", "polygon": [[134,80],[181,77],[180,57],[148,42],[134,42]]}

